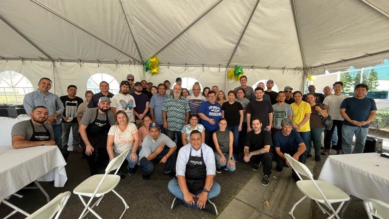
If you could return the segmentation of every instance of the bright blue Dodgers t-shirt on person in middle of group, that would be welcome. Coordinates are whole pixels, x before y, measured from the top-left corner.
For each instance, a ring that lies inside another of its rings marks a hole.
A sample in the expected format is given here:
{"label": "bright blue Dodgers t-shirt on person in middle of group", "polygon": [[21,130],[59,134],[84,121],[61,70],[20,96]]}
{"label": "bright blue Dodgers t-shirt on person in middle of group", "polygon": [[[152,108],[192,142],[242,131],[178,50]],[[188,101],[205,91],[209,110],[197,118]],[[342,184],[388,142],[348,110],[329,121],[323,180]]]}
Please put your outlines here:
{"label": "bright blue Dodgers t-shirt on person in middle of group", "polygon": [[209,101],[205,101],[198,108],[197,113],[203,113],[209,119],[213,119],[215,121],[214,125],[211,125],[209,122],[201,119],[201,124],[205,127],[205,129],[209,131],[216,131],[219,129],[219,120],[221,119],[221,106],[218,102],[214,104],[209,103]]}

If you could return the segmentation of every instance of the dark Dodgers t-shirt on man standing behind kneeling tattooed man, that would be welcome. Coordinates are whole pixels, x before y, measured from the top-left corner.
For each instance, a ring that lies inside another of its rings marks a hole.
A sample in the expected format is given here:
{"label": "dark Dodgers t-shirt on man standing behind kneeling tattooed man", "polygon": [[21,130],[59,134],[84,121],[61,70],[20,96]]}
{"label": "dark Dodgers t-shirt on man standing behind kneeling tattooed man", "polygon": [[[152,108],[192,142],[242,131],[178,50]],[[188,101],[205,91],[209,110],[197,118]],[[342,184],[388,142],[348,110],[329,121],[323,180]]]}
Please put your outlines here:
{"label": "dark Dodgers t-shirt on man standing behind kneeling tattooed man", "polygon": [[[266,100],[262,100],[262,101],[253,100],[248,103],[246,108],[246,113],[251,114],[251,119],[254,117],[258,117],[259,119],[261,119],[262,127],[266,127],[269,125],[269,113],[272,112],[273,112],[273,106],[269,101]],[[247,121],[247,122],[251,124],[251,121]]]}

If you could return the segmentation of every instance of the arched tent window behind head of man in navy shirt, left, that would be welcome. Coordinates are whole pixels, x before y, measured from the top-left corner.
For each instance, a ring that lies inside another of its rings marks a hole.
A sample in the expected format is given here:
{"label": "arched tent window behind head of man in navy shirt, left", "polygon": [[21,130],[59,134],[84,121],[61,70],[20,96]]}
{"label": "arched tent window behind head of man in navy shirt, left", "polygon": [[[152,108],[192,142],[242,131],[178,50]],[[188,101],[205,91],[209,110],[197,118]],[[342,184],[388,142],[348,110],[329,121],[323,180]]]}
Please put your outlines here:
{"label": "arched tent window behind head of man in navy shirt, left", "polygon": [[93,91],[93,93],[99,93],[100,92],[100,82],[107,81],[109,84],[109,92],[113,94],[119,93],[119,83],[118,81],[112,77],[109,74],[105,73],[97,73],[88,79],[86,82],[86,89]]}

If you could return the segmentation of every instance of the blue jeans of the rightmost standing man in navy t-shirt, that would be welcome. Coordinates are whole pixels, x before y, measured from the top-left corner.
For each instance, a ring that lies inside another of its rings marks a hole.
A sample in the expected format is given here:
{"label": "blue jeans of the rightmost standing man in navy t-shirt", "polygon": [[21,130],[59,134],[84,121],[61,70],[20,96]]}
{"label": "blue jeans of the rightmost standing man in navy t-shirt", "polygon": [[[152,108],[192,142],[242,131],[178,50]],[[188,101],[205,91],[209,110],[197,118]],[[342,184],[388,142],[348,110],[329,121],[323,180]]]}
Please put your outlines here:
{"label": "blue jeans of the rightmost standing man in navy t-shirt", "polygon": [[342,126],[342,153],[351,154],[351,142],[355,134],[355,146],[353,154],[362,153],[365,149],[366,137],[368,137],[369,128],[357,126]]}

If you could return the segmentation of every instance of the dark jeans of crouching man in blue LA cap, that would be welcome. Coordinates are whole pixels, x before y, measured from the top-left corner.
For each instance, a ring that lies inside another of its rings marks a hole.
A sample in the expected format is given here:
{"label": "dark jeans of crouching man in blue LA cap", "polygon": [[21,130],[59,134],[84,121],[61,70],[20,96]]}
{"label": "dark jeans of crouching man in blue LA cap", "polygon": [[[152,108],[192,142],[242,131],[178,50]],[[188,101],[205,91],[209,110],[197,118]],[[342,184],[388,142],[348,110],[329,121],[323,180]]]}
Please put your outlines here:
{"label": "dark jeans of crouching man in blue LA cap", "polygon": [[[155,164],[160,163],[161,159],[168,154],[170,148],[165,147],[162,152],[157,155],[156,158],[154,158],[151,161],[148,161],[145,157],[140,160],[141,166],[142,166],[142,173],[144,175],[150,175],[153,173],[155,169]],[[176,152],[174,152],[166,161],[166,165],[164,168],[164,173],[170,173],[173,170],[174,164],[176,163]]]}

